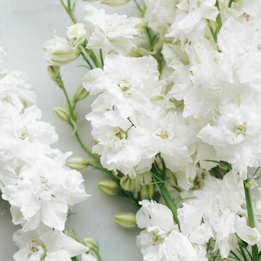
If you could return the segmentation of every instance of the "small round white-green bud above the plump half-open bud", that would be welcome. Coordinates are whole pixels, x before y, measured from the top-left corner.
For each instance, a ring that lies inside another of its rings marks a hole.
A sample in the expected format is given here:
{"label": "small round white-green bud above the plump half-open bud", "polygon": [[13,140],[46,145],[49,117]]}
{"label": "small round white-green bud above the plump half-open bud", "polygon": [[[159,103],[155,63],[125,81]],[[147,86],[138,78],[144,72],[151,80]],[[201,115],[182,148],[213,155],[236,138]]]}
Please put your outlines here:
{"label": "small round white-green bud above the plump half-open bud", "polygon": [[70,27],[67,27],[68,30],[65,34],[65,39],[73,49],[76,49],[84,42],[86,37],[86,31],[84,27],[85,25],[83,23],[76,23]]}

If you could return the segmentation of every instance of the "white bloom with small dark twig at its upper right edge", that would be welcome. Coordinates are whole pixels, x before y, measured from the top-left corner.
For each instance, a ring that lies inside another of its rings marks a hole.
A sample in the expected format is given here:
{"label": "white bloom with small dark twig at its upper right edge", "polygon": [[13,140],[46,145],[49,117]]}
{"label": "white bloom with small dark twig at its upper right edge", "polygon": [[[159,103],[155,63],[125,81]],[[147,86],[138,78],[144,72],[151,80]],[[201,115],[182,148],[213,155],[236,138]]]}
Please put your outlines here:
{"label": "white bloom with small dark twig at its upper right edge", "polygon": [[[127,119],[120,116],[119,111],[89,113],[86,118],[91,121],[92,135],[98,144],[92,152],[101,155],[101,164],[108,170],[120,170],[123,174],[135,177],[133,168],[142,159],[151,159],[146,164],[150,169],[154,161],[155,151],[148,148],[148,134],[135,127]],[[143,172],[143,169],[141,172]]]}

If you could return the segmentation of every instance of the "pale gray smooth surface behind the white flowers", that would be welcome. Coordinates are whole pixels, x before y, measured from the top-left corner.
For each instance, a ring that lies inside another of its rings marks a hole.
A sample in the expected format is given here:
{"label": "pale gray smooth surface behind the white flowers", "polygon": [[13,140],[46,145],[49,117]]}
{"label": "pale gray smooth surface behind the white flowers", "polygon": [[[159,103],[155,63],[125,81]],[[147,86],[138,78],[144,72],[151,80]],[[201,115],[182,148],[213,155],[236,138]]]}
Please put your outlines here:
{"label": "pale gray smooth surface behind the white flowers", "polygon": [[[83,22],[83,7],[93,4],[97,8],[105,8],[107,13],[128,13],[133,15],[133,3],[123,7],[108,7],[99,2],[83,2],[76,4],[76,17]],[[0,43],[7,52],[4,68],[26,71],[32,90],[38,97],[38,106],[43,112],[42,119],[55,126],[59,134],[59,141],[53,145],[63,152],[72,151],[74,156],[85,156],[77,144],[69,125],[59,122],[53,116],[53,108],[62,106],[65,98],[61,90],[48,78],[46,65],[40,51],[41,46],[48,39],[56,35],[64,37],[67,26],[72,23],[59,0],[0,0]],[[64,75],[65,88],[70,97],[81,85],[81,79],[86,73],[85,61],[78,58],[76,61],[61,68]],[[91,147],[91,125],[85,119],[90,112],[90,104],[94,97],[88,97],[77,105],[77,124],[84,132],[80,133],[88,148]],[[91,236],[100,244],[100,253],[103,261],[141,261],[142,256],[136,247],[136,235],[139,229],[124,229],[117,226],[112,220],[113,215],[121,211],[137,211],[137,208],[128,199],[117,196],[111,197],[98,190],[99,180],[108,178],[106,174],[90,169],[82,171],[85,178],[86,191],[93,196],[85,202],[76,204],[76,215],[68,217],[66,228],[73,227],[80,239]],[[0,216],[0,261],[13,260],[12,255],[17,248],[12,242],[12,234],[19,226],[12,224],[8,203],[1,199]]]}

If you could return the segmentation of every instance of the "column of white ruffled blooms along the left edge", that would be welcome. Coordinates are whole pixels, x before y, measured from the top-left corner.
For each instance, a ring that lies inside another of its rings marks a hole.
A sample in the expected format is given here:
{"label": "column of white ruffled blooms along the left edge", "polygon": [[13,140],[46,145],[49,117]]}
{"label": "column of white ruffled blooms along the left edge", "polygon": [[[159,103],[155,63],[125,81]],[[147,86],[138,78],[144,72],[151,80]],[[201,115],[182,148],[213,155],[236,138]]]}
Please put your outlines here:
{"label": "column of white ruffled blooms along the left edge", "polygon": [[68,205],[90,195],[81,173],[64,167],[71,152],[50,147],[58,135],[40,121],[29,88],[23,72],[0,68],[0,189],[11,205],[13,223],[22,225],[13,236],[20,248],[13,258],[70,261],[88,248],[62,232]]}

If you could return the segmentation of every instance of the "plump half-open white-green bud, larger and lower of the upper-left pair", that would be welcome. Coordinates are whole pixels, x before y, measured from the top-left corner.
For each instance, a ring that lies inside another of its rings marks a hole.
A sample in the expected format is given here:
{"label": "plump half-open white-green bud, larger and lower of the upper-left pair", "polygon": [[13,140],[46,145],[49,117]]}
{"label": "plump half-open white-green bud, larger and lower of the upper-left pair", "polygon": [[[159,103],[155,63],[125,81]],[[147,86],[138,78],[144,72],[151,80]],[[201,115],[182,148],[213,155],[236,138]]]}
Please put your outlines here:
{"label": "plump half-open white-green bud, larger and lower of the upper-left pair", "polygon": [[42,52],[47,60],[45,64],[61,66],[77,59],[81,50],[72,48],[64,38],[55,36],[55,39],[44,43]]}

